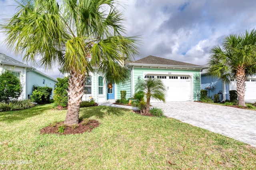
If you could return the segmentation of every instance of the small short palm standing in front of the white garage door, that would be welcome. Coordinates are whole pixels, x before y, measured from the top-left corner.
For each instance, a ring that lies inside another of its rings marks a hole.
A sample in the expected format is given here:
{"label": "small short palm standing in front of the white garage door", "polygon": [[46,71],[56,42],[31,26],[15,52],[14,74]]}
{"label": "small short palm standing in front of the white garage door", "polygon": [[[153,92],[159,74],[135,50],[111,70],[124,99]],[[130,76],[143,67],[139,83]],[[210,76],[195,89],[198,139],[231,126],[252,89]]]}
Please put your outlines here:
{"label": "small short palm standing in front of the white garage door", "polygon": [[156,100],[160,100],[165,102],[165,94],[166,88],[163,82],[160,79],[150,78],[145,80],[140,80],[137,82],[135,86],[135,91],[144,91],[146,95],[146,110],[145,114],[149,114],[150,107],[150,98],[155,98]]}

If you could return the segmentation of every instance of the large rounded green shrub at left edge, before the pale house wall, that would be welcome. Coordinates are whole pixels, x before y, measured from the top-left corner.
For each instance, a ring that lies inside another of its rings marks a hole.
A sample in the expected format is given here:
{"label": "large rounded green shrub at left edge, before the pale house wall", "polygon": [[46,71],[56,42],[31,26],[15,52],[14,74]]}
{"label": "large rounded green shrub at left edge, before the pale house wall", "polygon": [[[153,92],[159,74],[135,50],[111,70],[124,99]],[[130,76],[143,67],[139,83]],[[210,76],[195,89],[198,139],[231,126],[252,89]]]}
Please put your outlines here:
{"label": "large rounded green shrub at left edge, before the pale house wall", "polygon": [[0,102],[9,103],[17,100],[22,92],[20,80],[9,70],[0,74]]}

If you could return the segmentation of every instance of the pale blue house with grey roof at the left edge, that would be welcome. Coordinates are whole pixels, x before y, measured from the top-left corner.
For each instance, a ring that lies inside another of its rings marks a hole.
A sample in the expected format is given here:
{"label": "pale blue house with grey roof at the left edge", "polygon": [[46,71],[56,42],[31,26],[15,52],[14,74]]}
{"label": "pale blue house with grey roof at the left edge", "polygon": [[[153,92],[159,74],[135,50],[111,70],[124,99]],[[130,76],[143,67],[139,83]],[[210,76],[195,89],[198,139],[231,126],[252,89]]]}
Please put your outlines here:
{"label": "pale blue house with grey roof at the left edge", "polygon": [[0,53],[0,74],[4,69],[10,70],[12,74],[20,79],[22,94],[19,99],[24,100],[30,98],[33,85],[51,87],[53,96],[54,86],[58,82],[56,79],[36,70],[36,68],[32,66],[28,66],[12,57]]}

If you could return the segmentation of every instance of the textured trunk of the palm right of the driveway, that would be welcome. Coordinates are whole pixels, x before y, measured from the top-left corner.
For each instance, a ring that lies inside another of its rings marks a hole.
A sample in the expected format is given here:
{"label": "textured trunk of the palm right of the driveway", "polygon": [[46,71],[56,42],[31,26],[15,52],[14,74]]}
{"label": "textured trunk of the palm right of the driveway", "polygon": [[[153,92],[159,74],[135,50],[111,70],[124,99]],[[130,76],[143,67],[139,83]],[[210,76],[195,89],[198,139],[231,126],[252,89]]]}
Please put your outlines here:
{"label": "textured trunk of the palm right of the driveway", "polygon": [[246,79],[246,74],[245,74],[245,69],[243,66],[238,67],[236,70],[236,92],[238,96],[238,105],[244,106],[244,94],[245,94],[245,79]]}

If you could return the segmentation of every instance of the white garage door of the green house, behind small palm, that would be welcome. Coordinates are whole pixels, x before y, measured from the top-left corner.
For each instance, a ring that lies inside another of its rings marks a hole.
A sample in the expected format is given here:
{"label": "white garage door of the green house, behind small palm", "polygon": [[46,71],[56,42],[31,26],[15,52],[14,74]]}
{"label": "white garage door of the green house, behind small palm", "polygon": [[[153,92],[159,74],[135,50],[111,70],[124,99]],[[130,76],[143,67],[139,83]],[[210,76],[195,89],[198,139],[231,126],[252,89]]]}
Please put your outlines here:
{"label": "white garage door of the green house, behind small palm", "polygon": [[[166,102],[182,102],[190,101],[190,77],[189,76],[154,76],[162,80],[166,86]],[[159,102],[157,100],[152,100],[152,102]]]}

